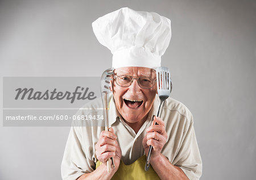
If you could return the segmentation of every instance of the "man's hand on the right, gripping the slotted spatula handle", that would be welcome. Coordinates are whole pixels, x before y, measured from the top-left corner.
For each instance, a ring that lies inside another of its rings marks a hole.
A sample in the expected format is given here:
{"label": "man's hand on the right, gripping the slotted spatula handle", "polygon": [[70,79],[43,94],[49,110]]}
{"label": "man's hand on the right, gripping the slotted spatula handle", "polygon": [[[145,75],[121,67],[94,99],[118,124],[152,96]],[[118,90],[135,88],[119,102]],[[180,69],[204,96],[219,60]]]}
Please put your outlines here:
{"label": "man's hand on the right, gripping the slotted spatula handle", "polygon": [[[157,123],[155,125],[155,122]],[[158,157],[163,149],[164,144],[167,140],[166,128],[164,128],[164,122],[159,117],[154,117],[150,127],[146,129],[147,133],[142,141],[143,148],[146,156],[148,154],[149,146],[152,145],[151,159]]]}

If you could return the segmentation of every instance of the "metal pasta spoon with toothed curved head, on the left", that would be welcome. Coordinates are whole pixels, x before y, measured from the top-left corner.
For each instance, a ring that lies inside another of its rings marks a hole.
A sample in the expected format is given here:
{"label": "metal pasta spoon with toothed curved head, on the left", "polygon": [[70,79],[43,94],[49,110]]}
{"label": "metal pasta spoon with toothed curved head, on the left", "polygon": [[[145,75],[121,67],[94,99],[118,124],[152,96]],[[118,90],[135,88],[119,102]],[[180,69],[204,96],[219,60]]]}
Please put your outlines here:
{"label": "metal pasta spoon with toothed curved head, on the left", "polygon": [[[112,81],[112,75],[114,70],[112,68],[105,70],[101,76],[101,100],[104,106],[105,112],[105,131],[109,131],[109,113],[108,113],[108,102],[110,94],[110,81]],[[113,157],[111,158],[113,168],[115,168]],[[107,171],[110,172],[111,162],[110,158],[107,161]]]}

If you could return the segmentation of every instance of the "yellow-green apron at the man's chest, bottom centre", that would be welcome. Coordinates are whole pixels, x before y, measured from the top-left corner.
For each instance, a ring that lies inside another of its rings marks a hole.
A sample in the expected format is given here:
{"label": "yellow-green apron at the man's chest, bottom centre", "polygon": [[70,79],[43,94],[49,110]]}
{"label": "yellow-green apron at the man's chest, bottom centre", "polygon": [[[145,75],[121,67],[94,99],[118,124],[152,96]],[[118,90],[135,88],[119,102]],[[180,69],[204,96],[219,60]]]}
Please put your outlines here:
{"label": "yellow-green apron at the man's chest, bottom centre", "polygon": [[[118,170],[115,172],[112,180],[132,180],[132,179],[140,179],[140,180],[155,180],[160,179],[158,174],[156,174],[155,170],[150,166],[148,171],[144,170],[146,163],[146,156],[142,156],[138,158],[133,164],[125,165],[121,160]],[[97,161],[96,169],[100,166],[101,162]]]}

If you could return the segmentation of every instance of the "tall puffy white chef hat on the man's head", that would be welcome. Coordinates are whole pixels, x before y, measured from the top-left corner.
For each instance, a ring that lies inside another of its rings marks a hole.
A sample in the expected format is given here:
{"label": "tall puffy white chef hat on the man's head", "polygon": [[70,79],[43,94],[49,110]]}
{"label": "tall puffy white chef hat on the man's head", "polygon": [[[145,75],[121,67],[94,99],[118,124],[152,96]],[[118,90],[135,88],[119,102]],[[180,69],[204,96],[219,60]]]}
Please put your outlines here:
{"label": "tall puffy white chef hat on the man's head", "polygon": [[92,23],[98,41],[113,54],[112,67],[157,68],[171,40],[171,20],[124,7]]}

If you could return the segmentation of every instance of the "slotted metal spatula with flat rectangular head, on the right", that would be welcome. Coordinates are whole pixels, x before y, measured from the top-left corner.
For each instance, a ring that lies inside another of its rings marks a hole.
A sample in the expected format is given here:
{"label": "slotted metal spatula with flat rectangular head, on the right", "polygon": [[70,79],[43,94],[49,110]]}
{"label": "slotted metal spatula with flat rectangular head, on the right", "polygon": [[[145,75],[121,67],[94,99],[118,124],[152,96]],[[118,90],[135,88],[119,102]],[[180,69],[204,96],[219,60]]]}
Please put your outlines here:
{"label": "slotted metal spatula with flat rectangular head, on the right", "polygon": [[[172,91],[171,74],[168,68],[159,67],[156,69],[156,86],[158,88],[158,96],[160,98],[160,104],[159,104],[158,113],[156,116],[160,117],[163,111],[163,108],[161,108],[162,104],[169,97]],[[147,154],[146,165],[145,165],[146,171],[150,167],[151,151],[152,151],[152,146],[150,145],[148,154]]]}

